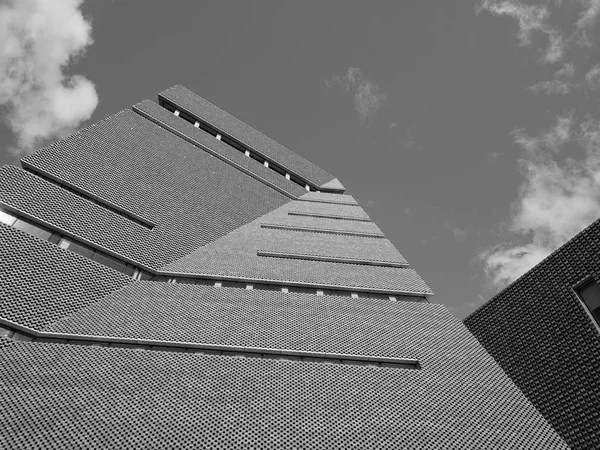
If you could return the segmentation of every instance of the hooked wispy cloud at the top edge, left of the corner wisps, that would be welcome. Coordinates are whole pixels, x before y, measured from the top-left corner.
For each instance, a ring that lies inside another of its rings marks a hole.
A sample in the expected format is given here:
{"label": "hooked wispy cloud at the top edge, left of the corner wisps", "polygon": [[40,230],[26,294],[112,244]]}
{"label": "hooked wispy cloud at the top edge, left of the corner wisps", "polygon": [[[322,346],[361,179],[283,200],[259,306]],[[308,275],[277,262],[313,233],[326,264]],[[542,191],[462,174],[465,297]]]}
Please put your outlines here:
{"label": "hooked wispy cloud at the top edge, left of the corner wisps", "polygon": [[563,58],[566,43],[562,35],[548,25],[550,12],[546,6],[528,5],[517,0],[482,0],[476,10],[515,19],[521,45],[530,44],[534,32],[546,34],[549,45],[542,59],[547,63],[555,63]]}

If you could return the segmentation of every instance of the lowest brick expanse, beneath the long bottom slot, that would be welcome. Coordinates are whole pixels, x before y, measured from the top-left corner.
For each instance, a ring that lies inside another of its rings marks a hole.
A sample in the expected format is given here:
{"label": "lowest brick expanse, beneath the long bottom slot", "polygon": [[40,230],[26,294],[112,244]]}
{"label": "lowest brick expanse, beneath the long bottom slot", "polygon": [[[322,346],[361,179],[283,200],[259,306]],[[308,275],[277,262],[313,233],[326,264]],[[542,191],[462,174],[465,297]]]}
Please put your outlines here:
{"label": "lowest brick expanse, beneath the long bottom slot", "polygon": [[421,370],[12,345],[0,447],[567,448],[460,323],[437,319],[413,330]]}

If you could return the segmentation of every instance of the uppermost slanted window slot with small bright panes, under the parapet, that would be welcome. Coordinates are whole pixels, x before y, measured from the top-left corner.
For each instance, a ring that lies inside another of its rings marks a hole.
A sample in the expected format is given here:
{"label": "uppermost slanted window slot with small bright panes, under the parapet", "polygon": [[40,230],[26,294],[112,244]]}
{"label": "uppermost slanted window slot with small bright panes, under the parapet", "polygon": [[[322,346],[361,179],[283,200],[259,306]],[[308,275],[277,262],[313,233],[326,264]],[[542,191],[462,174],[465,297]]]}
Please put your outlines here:
{"label": "uppermost slanted window slot with small bright panes, under the parapet", "polygon": [[[210,135],[212,135],[212,136],[219,135],[221,142],[229,145],[232,148],[235,148],[236,150],[238,150],[241,153],[248,154],[248,156],[250,156],[250,158],[252,158],[256,162],[259,162],[260,164],[263,164],[263,165],[266,162],[268,164],[268,168],[269,169],[273,170],[274,172],[278,173],[279,175],[282,175],[282,176],[286,177],[287,179],[289,179],[293,183],[296,183],[296,184],[298,184],[299,186],[302,186],[305,189],[307,189],[307,186],[308,186],[308,190],[309,191],[318,191],[319,190],[318,187],[316,187],[314,185],[311,185],[306,180],[302,179],[301,177],[299,177],[297,175],[289,173],[283,167],[281,167],[278,164],[270,161],[269,159],[266,159],[265,157],[263,157],[262,155],[258,154],[256,151],[252,150],[248,146],[242,144],[241,142],[239,142],[235,138],[224,134],[223,132],[217,130],[216,128],[214,128],[210,124],[206,123],[205,121],[201,120],[198,117],[195,117],[194,115],[188,113],[187,111],[180,110],[177,106],[175,106],[175,105],[173,105],[173,104],[165,101],[162,98],[159,100],[159,105],[162,106],[163,108],[165,108],[166,110],[168,110],[168,111],[176,114],[178,117],[182,118],[186,122],[189,122],[192,125],[195,125],[198,128],[200,128],[201,130],[209,133]],[[335,194],[336,192],[332,192],[332,193]]]}

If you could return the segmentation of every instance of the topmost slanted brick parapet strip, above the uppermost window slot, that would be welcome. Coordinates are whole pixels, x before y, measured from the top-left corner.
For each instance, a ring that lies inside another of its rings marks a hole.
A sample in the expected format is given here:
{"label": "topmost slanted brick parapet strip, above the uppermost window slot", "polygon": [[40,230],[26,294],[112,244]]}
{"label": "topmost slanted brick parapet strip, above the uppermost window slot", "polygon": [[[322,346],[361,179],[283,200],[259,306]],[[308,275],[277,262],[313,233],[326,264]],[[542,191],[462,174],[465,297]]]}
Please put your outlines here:
{"label": "topmost slanted brick parapet strip, above the uppermost window slot", "polygon": [[159,93],[159,97],[169,100],[183,110],[199,117],[204,122],[234,137],[242,144],[292,170],[317,186],[334,179],[333,175],[269,139],[183,86],[176,85],[166,89]]}

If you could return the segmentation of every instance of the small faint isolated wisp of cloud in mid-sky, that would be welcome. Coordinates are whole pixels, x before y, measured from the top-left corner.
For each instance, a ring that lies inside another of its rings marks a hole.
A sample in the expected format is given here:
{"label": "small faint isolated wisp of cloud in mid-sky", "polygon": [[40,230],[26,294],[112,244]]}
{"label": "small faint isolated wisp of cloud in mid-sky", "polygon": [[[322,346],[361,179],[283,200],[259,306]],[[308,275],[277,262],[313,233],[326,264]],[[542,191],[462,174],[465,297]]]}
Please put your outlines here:
{"label": "small faint isolated wisp of cloud in mid-sky", "polygon": [[356,67],[349,67],[343,76],[326,80],[327,87],[339,86],[354,96],[354,109],[362,125],[368,126],[375,118],[377,111],[387,101],[379,86],[367,79]]}

